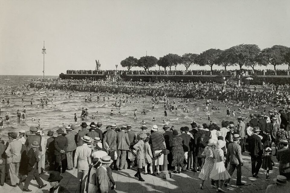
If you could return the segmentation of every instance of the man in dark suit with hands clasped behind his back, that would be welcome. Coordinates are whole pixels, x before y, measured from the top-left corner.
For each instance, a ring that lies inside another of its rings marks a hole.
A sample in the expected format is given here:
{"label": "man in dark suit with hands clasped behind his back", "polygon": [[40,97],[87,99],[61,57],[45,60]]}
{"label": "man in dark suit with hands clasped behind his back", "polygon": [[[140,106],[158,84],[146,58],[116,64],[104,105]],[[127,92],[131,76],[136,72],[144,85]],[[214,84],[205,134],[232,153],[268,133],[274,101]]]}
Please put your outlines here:
{"label": "man in dark suit with hands clasped behind his back", "polygon": [[62,172],[66,171],[67,162],[66,162],[66,151],[68,147],[67,138],[63,136],[63,130],[59,128],[56,130],[58,136],[54,139],[54,155],[55,155],[55,164],[54,170],[60,172],[60,167],[62,167]]}

